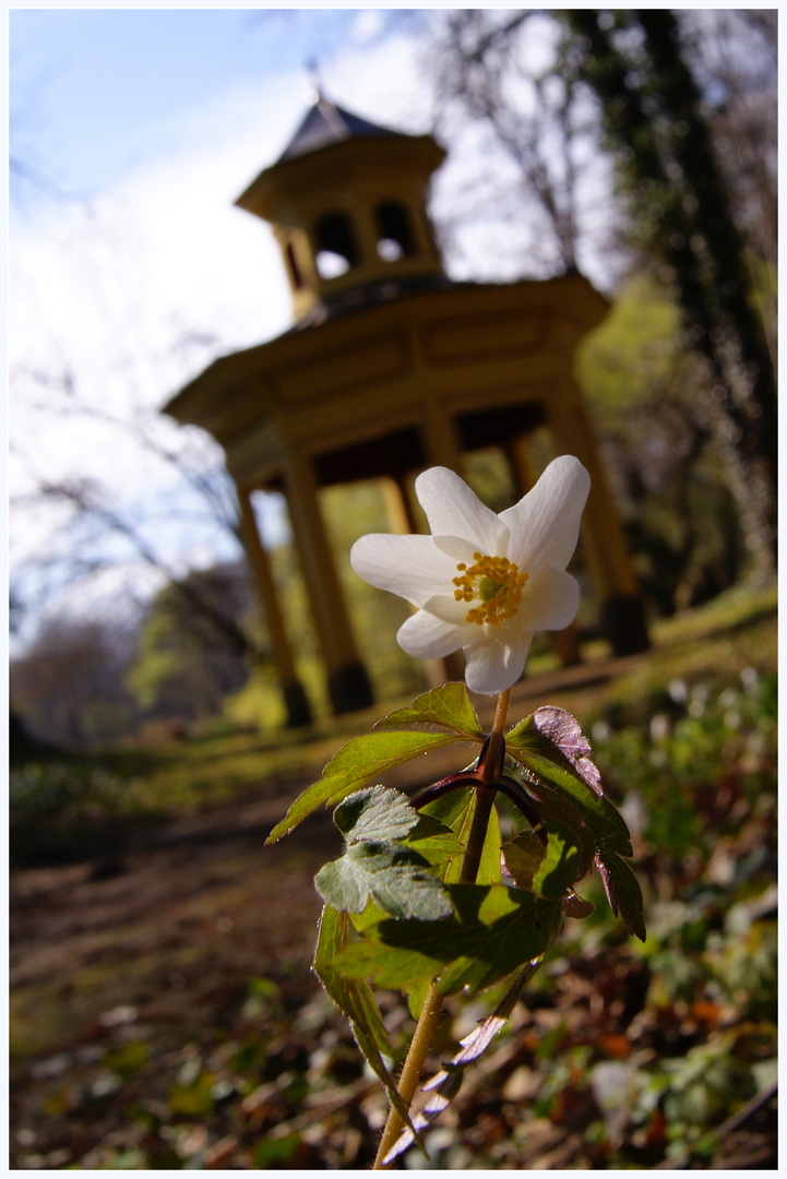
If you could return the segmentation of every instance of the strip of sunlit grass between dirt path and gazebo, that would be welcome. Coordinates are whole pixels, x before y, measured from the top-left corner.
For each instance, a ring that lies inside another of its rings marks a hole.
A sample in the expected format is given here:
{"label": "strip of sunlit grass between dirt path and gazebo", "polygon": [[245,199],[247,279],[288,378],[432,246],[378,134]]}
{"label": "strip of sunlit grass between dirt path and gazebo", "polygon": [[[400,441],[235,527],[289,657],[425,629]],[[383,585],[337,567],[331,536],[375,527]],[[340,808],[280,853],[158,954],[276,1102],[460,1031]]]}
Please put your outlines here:
{"label": "strip of sunlit grass between dirt path and gazebo", "polygon": [[[710,685],[740,677],[747,667],[776,668],[776,588],[736,587],[714,601],[653,626],[654,647],[633,667],[607,681],[558,696],[584,724],[621,710],[631,718],[652,709],[673,680]],[[608,663],[603,645],[586,648],[588,666]],[[554,659],[542,660],[542,671]],[[537,666],[529,668],[537,687]],[[207,810],[244,793],[279,791],[295,779],[316,779],[339,744],[363,732],[391,700],[364,712],[323,720],[276,736],[231,733],[172,740],[156,749],[126,747],[95,756],[73,755],[14,768],[11,775],[12,862],[64,862],[117,850],[145,824]]]}

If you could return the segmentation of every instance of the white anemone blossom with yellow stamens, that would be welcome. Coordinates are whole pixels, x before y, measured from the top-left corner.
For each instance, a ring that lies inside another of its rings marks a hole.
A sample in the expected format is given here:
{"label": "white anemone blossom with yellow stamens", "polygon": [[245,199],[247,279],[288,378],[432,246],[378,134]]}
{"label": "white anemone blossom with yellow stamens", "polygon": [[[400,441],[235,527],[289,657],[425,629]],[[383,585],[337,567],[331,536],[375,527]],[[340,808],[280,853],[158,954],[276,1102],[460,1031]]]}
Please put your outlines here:
{"label": "white anemone blossom with yellow stamens", "polygon": [[496,515],[452,470],[431,467],[416,480],[431,536],[362,536],[350,564],[418,607],[397,634],[408,654],[442,659],[462,647],[468,687],[496,696],[524,671],[536,631],[576,617],[580,587],[566,566],[589,490],[582,463],[563,455]]}

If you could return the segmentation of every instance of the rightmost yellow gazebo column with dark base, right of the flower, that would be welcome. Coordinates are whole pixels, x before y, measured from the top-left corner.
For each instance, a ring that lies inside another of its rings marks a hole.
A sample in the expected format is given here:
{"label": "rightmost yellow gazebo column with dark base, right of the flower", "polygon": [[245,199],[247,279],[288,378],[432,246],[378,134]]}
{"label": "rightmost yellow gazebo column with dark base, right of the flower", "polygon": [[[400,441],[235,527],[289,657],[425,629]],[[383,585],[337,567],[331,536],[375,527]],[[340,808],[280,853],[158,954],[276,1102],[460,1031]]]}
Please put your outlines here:
{"label": "rightmost yellow gazebo column with dark base, right of the flower", "polygon": [[549,424],[560,448],[574,454],[590,475],[582,536],[590,574],[602,597],[602,627],[616,656],[636,654],[648,650],[650,639],[617,508],[580,390],[571,381],[561,393],[547,402]]}

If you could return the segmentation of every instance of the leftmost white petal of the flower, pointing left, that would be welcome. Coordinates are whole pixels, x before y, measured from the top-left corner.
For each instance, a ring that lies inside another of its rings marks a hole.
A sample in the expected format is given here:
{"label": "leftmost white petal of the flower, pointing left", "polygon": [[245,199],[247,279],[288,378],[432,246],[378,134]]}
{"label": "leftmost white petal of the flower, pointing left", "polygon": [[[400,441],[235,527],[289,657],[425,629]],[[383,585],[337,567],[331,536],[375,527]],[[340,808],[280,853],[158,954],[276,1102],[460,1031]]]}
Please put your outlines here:
{"label": "leftmost white petal of the flower, pointing left", "polygon": [[444,594],[456,577],[456,564],[431,536],[370,533],[352,546],[350,565],[369,585],[396,593],[414,606]]}

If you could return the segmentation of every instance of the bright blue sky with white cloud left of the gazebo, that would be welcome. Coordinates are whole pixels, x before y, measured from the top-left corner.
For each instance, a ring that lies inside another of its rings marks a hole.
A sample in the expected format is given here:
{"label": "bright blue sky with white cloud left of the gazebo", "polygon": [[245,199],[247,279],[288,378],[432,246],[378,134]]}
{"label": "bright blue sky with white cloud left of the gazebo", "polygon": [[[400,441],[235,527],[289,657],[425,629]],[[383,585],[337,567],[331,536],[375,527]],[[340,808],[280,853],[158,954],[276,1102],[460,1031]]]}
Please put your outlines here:
{"label": "bright blue sky with white cloud left of the gazebo", "polygon": [[[385,20],[355,9],[9,14],[11,153],[41,178],[12,173],[12,495],[79,477],[140,519],[183,501],[128,432],[64,414],[57,390],[25,374],[55,384],[67,374],[88,411],[133,423],[217,353],[286,330],[272,232],[233,202],[303,118],[310,61],[336,101],[425,130],[414,46],[401,29],[381,37]],[[176,348],[183,335],[212,341]],[[174,441],[173,423],[160,429]],[[12,509],[12,567],[62,551],[62,519]],[[275,502],[264,522],[275,541]],[[234,555],[210,526],[184,526],[177,541],[170,529],[160,544],[179,568]]]}

